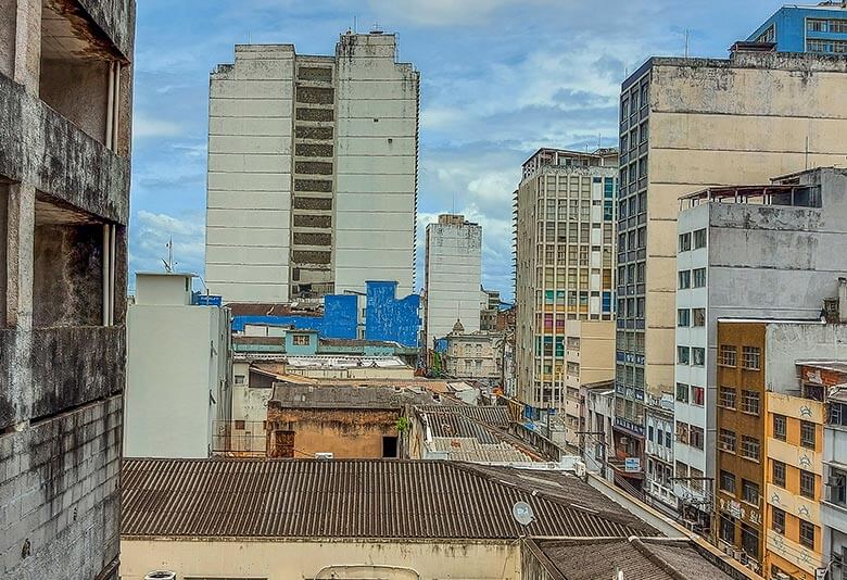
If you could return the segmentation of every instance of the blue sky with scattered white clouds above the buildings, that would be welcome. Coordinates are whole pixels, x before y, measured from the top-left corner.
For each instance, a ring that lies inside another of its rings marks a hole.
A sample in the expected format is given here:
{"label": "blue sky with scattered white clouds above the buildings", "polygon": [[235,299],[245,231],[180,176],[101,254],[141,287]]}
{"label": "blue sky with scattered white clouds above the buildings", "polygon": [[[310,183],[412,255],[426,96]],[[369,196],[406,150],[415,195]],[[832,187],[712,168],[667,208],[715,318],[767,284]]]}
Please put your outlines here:
{"label": "blue sky with scattered white clouds above the buildings", "polygon": [[[378,23],[421,75],[417,286],[439,213],[482,225],[482,282],[514,293],[511,196],[539,148],[617,146],[620,83],[650,55],[726,56],[773,0],[140,0],[129,268],[202,276],[208,74],[233,45],[332,54]],[[130,277],[130,289],[134,287]]]}

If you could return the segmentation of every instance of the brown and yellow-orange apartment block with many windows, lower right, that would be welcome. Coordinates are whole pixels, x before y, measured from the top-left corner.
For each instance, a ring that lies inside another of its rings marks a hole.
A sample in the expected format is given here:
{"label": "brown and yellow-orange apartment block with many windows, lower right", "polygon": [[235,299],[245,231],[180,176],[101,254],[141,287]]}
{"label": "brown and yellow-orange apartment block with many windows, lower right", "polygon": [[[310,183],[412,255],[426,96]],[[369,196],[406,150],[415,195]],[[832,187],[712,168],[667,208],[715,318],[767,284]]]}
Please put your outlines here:
{"label": "brown and yellow-orange apartment block with many windows, lower right", "polygon": [[758,573],[775,566],[788,578],[813,578],[822,562],[824,415],[813,399],[802,401],[821,391],[798,389],[798,363],[844,357],[847,325],[721,318],[718,348],[726,354],[717,373],[716,541]]}

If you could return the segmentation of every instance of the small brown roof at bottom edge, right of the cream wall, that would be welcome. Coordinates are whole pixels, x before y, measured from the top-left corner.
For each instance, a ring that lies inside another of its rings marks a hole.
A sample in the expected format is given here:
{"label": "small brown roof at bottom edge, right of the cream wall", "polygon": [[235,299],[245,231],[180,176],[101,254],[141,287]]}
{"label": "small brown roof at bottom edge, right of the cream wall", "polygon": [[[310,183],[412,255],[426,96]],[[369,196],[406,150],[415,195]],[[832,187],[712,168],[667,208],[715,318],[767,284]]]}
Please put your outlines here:
{"label": "small brown roof at bottom edge, right of the cream wall", "polygon": [[[595,580],[722,580],[732,576],[712,564],[693,542],[661,538],[532,540],[530,551],[554,578]],[[540,556],[541,553],[541,556]],[[574,566],[579,563],[579,566]]]}

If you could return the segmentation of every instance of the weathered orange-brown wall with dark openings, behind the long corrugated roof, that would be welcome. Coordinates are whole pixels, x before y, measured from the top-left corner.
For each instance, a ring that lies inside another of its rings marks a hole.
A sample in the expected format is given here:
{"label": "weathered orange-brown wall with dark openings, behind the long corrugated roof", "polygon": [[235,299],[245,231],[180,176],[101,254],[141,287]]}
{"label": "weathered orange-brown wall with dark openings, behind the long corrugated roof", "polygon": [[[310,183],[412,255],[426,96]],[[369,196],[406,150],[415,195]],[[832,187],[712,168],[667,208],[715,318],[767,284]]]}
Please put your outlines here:
{"label": "weathered orange-brown wall with dark openings, behind the long corrugated roof", "polygon": [[399,437],[400,416],[400,409],[280,408],[274,403],[267,412],[268,431],[294,431],[292,456],[299,458],[319,452],[338,458],[380,458],[382,438]]}

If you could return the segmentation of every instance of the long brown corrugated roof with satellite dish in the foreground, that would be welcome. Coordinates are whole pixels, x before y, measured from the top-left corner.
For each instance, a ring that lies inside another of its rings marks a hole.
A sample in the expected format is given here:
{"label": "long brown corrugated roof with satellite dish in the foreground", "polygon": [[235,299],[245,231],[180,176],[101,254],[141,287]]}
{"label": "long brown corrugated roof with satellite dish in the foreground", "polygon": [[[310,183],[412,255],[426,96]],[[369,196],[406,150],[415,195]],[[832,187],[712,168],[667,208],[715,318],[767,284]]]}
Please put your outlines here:
{"label": "long brown corrugated roof with satellite dish in the foreground", "polygon": [[[122,533],[132,537],[655,534],[565,474],[536,486],[516,469],[454,462],[222,458],[125,459],[122,475]],[[517,501],[534,512],[527,528],[511,516]]]}

